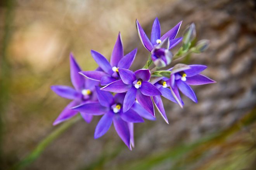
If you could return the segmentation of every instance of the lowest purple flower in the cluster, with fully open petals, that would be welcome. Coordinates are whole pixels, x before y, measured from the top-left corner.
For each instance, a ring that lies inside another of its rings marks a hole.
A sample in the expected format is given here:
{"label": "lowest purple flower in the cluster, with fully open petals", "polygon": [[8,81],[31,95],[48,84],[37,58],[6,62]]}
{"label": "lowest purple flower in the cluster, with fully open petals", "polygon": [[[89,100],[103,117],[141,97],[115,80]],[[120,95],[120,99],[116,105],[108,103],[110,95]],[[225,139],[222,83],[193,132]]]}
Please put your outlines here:
{"label": "lowest purple flower in the cluster, with fully open petals", "polygon": [[100,90],[99,87],[96,87],[96,92],[99,102],[79,105],[72,109],[91,115],[104,114],[95,129],[94,138],[96,139],[104,135],[113,122],[119,137],[131,150],[131,146],[134,146],[134,139],[133,125],[129,122],[144,122],[142,117],[134,109],[127,110],[125,113],[123,112],[122,107],[125,93],[117,93],[113,97],[110,92]]}

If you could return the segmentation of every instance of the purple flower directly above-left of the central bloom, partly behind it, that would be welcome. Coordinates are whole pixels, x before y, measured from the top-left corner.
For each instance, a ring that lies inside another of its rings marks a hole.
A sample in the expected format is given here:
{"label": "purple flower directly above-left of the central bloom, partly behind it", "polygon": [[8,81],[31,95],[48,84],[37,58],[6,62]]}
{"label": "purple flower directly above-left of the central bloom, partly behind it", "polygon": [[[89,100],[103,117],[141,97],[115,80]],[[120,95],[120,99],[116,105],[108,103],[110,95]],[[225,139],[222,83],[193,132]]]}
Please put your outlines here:
{"label": "purple flower directly above-left of the central bloom, partly behind it", "polygon": [[120,79],[118,72],[119,68],[130,68],[133,60],[135,59],[136,53],[137,49],[134,49],[124,56],[123,44],[121,41],[121,35],[119,33],[111,54],[110,63],[102,54],[92,50],[92,57],[96,63],[98,63],[102,71],[81,71],[80,74],[92,80],[100,81],[101,85],[107,85]]}

